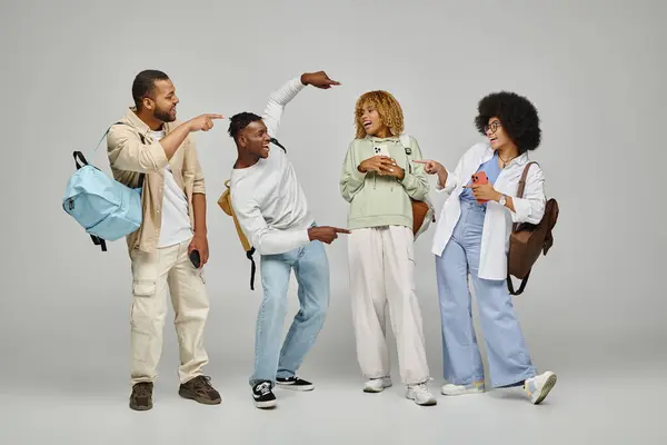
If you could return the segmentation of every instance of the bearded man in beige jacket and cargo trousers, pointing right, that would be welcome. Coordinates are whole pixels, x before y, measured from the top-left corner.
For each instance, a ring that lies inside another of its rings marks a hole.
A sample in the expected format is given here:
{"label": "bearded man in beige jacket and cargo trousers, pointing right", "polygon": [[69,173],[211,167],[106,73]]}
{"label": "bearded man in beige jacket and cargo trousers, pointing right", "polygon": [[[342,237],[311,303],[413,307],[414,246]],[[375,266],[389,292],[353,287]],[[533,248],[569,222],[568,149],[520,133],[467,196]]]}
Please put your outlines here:
{"label": "bearded man in beige jacket and cargo trousers, pointing right", "polygon": [[[167,290],[179,343],[179,394],[202,404],[220,394],[202,375],[208,363],[203,329],[209,310],[202,267],[208,261],[206,195],[193,131],[208,131],[219,115],[176,120],[178,98],[169,77],[141,71],[131,107],[107,137],[113,177],[142,187],[143,220],[127,237],[132,269],[130,407],[152,408],[156,368],[162,349]],[[143,175],[141,175],[143,174]],[[199,267],[190,259],[197,250]]]}

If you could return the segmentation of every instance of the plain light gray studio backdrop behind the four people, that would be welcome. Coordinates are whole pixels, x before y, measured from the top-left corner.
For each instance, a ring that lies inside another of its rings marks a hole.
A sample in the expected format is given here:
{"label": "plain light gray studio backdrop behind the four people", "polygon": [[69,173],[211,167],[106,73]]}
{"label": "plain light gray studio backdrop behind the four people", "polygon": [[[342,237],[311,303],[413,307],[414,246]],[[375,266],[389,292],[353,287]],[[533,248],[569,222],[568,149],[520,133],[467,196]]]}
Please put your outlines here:
{"label": "plain light gray studio backdrop behind the four people", "polygon": [[[338,179],[360,93],[396,95],[407,132],[449,168],[480,140],[472,126],[479,98],[500,89],[526,95],[542,118],[544,142],[532,156],[560,202],[555,246],[516,299],[535,362],[593,375],[637,373],[664,358],[663,2],[14,0],[1,9],[2,382],[39,390],[88,392],[81,382],[128,387],[125,241],[100,253],[61,198],[72,150],[91,150],[126,112],[133,76],[146,68],[171,76],[181,119],[261,112],[273,89],[303,71],[323,69],[341,81],[303,90],[278,135],[317,220],[338,226],[347,215]],[[261,299],[259,277],[250,291],[249,261],[216,204],[235,160],[227,125],[196,135],[211,250],[207,372],[221,387],[246,384]],[[104,146],[91,160],[109,171]],[[417,243],[417,290],[439,380],[432,233]],[[303,375],[358,384],[346,243],[327,248],[331,306]],[[175,383],[169,317],[159,370]]]}

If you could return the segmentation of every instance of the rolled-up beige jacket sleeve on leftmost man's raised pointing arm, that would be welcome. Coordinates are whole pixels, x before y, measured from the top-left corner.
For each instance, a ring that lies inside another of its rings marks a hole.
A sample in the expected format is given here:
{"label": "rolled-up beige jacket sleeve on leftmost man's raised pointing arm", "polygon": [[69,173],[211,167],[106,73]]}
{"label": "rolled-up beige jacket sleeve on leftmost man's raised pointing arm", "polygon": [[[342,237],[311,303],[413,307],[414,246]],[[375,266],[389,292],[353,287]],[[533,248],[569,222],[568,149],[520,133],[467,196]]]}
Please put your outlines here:
{"label": "rolled-up beige jacket sleeve on leftmost man's raised pointing arm", "polygon": [[107,152],[111,167],[118,170],[155,172],[163,169],[169,160],[157,140],[141,140],[129,126],[115,125],[107,135]]}

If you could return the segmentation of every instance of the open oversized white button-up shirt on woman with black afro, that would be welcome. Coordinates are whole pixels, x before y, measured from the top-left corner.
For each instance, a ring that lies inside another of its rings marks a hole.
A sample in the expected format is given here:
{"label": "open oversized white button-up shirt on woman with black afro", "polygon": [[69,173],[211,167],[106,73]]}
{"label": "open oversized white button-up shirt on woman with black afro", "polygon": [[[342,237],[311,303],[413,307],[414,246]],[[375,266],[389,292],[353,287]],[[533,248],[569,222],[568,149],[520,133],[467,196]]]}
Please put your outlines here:
{"label": "open oversized white button-up shirt on woman with black afro", "polygon": [[[441,256],[451,238],[454,228],[461,214],[459,200],[464,186],[479,167],[494,157],[488,142],[476,144],[461,156],[454,171],[447,170],[447,184],[436,187],[439,192],[448,195],[438,220],[431,251]],[[516,211],[511,211],[496,201],[487,202],[481,234],[479,278],[506,279],[507,253],[512,222],[538,224],[545,212],[545,177],[541,168],[532,164],[526,178],[524,198],[516,198],[524,167],[528,164],[528,154],[524,154],[509,162],[498,176],[494,188],[500,194],[511,196]]]}

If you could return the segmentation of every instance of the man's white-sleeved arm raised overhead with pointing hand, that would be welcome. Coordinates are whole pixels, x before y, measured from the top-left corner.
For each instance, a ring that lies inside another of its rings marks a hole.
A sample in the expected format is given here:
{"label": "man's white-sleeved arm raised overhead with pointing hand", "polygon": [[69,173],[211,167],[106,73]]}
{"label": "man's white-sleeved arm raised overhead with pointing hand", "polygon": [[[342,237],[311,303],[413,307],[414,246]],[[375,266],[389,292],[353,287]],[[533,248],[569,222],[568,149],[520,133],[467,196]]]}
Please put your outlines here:
{"label": "man's white-sleeved arm raised overhead with pointing hand", "polygon": [[285,107],[305,87],[313,86],[316,88],[328,90],[331,86],[338,86],[340,82],[329,79],[325,71],[305,72],[285,83],[269,96],[269,102],[265,108],[262,120],[267,126],[269,136],[276,138],[280,119]]}

